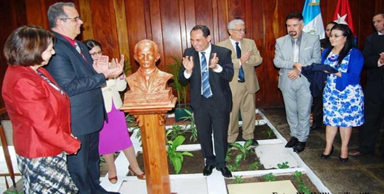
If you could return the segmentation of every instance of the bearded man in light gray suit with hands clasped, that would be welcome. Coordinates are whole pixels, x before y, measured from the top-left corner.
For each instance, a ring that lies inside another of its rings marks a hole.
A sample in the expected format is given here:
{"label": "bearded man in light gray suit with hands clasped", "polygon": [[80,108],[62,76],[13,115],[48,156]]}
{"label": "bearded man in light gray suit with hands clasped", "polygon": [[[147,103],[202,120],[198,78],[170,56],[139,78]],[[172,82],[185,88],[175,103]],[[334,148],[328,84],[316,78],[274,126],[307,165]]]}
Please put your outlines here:
{"label": "bearded man in light gray suit with hands clasped", "polygon": [[309,135],[312,104],[310,83],[300,75],[301,67],[320,63],[320,41],[318,36],[302,32],[304,23],[301,13],[290,13],[285,21],[288,34],[276,40],[273,62],[280,68],[279,89],[292,136],[285,147],[301,152]]}

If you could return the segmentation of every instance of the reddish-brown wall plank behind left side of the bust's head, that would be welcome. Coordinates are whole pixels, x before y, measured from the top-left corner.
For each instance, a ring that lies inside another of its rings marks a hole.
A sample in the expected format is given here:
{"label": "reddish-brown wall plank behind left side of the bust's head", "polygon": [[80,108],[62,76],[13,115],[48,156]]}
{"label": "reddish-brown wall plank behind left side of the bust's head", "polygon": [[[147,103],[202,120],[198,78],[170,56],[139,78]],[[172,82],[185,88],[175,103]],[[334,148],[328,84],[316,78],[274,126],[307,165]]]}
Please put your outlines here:
{"label": "reddish-brown wall plank behind left side of the bust's head", "polygon": [[125,0],[124,3],[128,30],[129,55],[133,66],[132,71],[135,71],[138,69],[138,65],[135,63],[135,59],[133,58],[133,55],[135,54],[134,47],[137,42],[147,38],[146,31],[151,31],[151,29],[148,29],[145,26],[146,22],[143,0]]}

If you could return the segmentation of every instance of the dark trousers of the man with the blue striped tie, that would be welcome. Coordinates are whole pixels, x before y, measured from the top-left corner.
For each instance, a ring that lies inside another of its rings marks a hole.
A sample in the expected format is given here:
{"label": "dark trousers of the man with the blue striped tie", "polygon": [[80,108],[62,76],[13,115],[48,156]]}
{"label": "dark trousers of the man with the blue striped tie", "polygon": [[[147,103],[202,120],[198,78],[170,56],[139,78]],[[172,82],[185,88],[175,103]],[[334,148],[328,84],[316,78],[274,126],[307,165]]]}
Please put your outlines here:
{"label": "dark trousers of the man with the blue striped tie", "polygon": [[[228,148],[229,112],[220,112],[214,105],[215,102],[211,98],[202,97],[200,107],[193,109],[193,117],[206,164],[224,168]],[[212,131],[215,154],[213,154]]]}

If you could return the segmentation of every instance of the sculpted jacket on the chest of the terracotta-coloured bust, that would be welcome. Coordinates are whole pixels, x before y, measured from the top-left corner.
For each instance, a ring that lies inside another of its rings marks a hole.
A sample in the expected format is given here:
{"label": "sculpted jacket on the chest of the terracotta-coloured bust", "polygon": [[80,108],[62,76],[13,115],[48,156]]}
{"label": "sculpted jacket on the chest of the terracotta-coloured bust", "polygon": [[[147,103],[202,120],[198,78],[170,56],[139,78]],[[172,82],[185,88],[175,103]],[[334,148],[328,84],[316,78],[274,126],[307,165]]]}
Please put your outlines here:
{"label": "sculpted jacket on the chest of the terracotta-coloured bust", "polygon": [[167,81],[173,76],[167,72],[156,69],[154,75],[149,80],[148,87],[146,86],[146,80],[140,76],[140,70],[136,71],[132,75],[127,77],[129,88],[135,92],[153,93],[158,90],[165,90],[167,87]]}

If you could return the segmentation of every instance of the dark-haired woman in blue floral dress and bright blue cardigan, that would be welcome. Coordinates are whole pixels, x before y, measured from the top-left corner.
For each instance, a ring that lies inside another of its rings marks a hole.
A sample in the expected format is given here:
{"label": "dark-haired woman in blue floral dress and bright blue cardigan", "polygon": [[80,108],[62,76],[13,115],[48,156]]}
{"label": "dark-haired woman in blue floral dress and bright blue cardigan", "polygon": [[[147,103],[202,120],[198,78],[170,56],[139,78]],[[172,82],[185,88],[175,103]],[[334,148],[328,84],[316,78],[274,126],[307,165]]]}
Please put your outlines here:
{"label": "dark-haired woman in blue floral dress and bright blue cardigan", "polygon": [[332,27],[331,47],[324,50],[322,64],[330,65],[339,72],[329,74],[323,92],[323,122],[326,127],[327,145],[321,159],[333,151],[333,140],[340,128],[341,162],[348,161],[348,143],[352,127],[364,124],[364,94],[360,85],[360,73],[364,58],[354,46],[353,33],[347,25]]}

